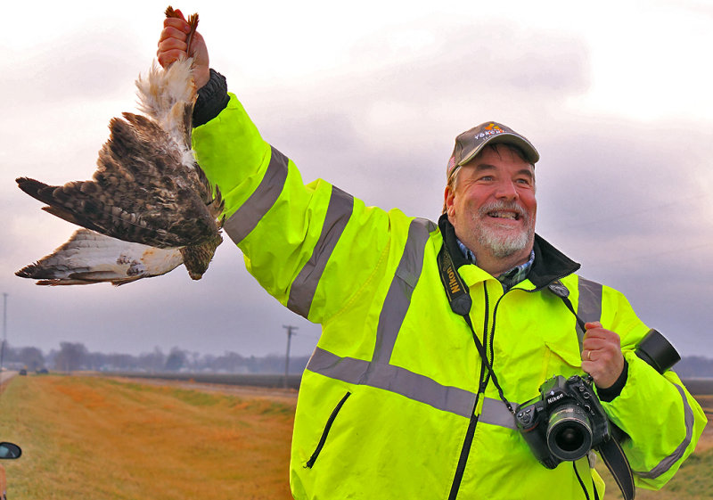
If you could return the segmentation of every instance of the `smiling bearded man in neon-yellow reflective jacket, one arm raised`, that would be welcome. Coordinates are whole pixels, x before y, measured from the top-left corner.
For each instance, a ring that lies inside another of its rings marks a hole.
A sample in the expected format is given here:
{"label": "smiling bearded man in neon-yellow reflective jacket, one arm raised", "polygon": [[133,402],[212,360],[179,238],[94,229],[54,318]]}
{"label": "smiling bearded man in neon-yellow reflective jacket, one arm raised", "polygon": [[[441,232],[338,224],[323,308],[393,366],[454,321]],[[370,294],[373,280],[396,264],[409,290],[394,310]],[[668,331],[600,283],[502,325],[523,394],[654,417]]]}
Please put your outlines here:
{"label": "smiling bearded man in neon-yellow reflective jacket, one arm raised", "polygon": [[[187,32],[165,20],[162,65],[184,55]],[[438,225],[366,207],[304,185],[193,40],[193,146],[223,193],[225,232],[266,291],[323,325],[299,390],[295,498],[602,498],[591,456],[545,468],[511,412],[545,379],[583,372],[627,433],[637,484],[670,479],[701,408],[635,356],[649,329],[627,299],[535,234],[527,139],[495,122],[459,135]]]}

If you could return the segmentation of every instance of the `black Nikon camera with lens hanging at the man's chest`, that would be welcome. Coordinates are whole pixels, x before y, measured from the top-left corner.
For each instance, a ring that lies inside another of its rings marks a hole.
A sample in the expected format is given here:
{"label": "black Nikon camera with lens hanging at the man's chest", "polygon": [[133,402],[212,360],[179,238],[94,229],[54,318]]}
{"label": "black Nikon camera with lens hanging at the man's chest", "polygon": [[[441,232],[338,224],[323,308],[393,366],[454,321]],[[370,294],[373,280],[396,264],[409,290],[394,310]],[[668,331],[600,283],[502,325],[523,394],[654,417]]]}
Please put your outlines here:
{"label": "black Nikon camera with lens hanging at the man's chest", "polygon": [[548,469],[583,457],[610,439],[609,418],[591,384],[579,375],[546,380],[540,395],[517,407],[515,422]]}

